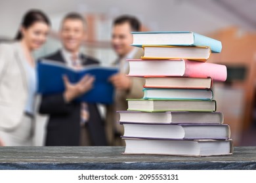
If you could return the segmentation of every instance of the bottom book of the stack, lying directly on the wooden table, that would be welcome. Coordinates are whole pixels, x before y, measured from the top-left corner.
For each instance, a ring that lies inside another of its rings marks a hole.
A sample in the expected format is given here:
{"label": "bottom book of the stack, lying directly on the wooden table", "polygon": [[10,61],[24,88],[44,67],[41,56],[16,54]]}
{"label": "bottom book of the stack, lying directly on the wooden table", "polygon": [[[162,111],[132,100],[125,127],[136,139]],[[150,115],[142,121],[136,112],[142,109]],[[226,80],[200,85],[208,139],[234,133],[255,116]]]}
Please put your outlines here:
{"label": "bottom book of the stack, lying directly on the wooden table", "polygon": [[179,141],[173,139],[135,139],[125,140],[123,154],[160,154],[171,156],[221,156],[233,152],[232,140],[194,140]]}

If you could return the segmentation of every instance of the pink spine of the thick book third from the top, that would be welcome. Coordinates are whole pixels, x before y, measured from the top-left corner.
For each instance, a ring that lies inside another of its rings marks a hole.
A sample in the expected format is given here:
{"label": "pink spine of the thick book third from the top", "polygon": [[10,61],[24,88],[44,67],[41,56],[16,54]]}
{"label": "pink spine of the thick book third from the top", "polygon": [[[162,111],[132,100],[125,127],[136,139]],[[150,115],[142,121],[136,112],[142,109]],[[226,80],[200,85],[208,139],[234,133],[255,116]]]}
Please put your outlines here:
{"label": "pink spine of the thick book third from the top", "polygon": [[224,82],[227,77],[226,66],[215,63],[201,63],[185,60],[186,69],[184,76],[192,78],[211,77],[213,81]]}

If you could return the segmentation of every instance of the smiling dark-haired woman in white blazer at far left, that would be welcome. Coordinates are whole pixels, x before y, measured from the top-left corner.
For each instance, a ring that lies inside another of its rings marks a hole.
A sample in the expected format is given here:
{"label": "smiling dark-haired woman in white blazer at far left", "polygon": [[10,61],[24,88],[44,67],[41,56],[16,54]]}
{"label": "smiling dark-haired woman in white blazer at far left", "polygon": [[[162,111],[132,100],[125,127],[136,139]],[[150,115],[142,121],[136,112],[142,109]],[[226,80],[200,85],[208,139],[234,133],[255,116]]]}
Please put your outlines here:
{"label": "smiling dark-haired woman in white blazer at far left", "polygon": [[33,50],[47,39],[50,22],[30,10],[14,42],[0,44],[0,144],[32,146],[34,99],[37,89]]}

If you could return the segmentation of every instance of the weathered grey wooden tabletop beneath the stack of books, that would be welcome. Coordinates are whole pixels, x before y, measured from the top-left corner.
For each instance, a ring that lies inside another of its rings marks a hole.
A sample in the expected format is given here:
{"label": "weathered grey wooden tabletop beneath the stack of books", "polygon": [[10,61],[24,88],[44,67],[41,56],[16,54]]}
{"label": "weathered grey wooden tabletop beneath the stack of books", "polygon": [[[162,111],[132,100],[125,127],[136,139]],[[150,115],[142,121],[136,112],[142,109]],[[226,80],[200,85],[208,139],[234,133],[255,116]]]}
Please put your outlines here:
{"label": "weathered grey wooden tabletop beneath the stack of books", "polygon": [[0,147],[0,169],[256,169],[256,146],[232,156],[129,155],[123,146]]}

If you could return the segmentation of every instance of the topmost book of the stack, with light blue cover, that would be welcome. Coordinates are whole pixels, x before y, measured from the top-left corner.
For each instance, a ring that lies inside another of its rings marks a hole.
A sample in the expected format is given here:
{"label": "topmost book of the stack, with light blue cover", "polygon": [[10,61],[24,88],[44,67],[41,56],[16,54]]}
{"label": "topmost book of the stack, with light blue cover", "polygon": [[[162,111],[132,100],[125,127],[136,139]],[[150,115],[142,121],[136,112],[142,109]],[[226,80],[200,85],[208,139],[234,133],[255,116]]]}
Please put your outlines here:
{"label": "topmost book of the stack, with light blue cover", "polygon": [[166,32],[131,32],[133,34],[132,46],[158,45],[158,46],[209,46],[211,52],[220,53],[221,41],[193,33],[190,31]]}

